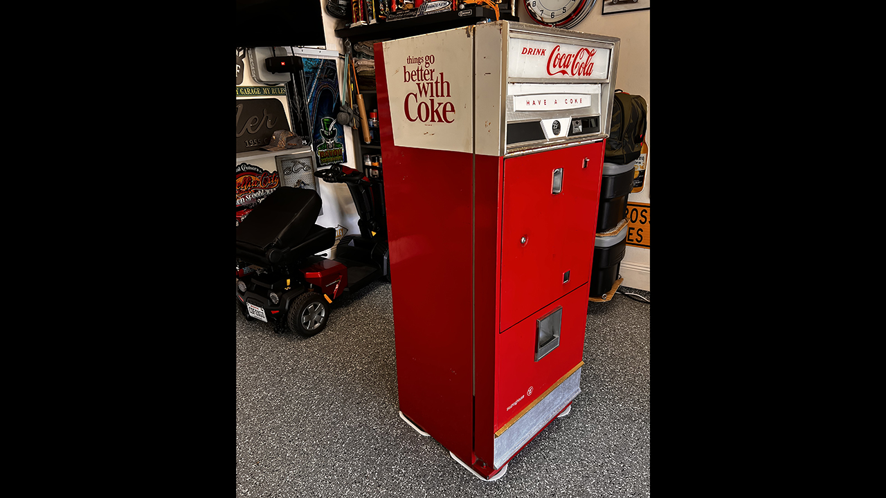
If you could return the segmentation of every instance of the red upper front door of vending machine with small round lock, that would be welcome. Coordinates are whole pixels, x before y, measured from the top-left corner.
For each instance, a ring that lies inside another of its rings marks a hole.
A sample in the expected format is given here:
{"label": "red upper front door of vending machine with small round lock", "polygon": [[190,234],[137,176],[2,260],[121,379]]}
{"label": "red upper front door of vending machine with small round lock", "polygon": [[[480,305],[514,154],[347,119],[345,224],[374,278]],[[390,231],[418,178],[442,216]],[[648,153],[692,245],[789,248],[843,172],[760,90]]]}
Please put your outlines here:
{"label": "red upper front door of vending machine with small round lock", "polygon": [[[504,161],[502,331],[588,281],[602,152],[598,142]],[[555,195],[551,188],[557,168],[563,169],[563,189]],[[566,271],[569,281],[563,283]]]}

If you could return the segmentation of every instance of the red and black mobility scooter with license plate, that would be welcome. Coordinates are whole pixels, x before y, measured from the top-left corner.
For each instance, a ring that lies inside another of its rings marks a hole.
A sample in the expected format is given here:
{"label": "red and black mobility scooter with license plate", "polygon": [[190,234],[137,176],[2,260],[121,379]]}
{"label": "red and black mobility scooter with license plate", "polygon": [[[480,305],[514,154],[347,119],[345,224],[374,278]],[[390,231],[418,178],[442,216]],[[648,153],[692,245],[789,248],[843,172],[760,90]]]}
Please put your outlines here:
{"label": "red and black mobility scooter with license plate", "polygon": [[336,230],[316,223],[317,191],[278,187],[237,225],[237,307],[247,320],[273,323],[276,332],[310,337],[323,331],[331,304],[377,278],[390,279],[384,187],[350,167],[315,172],[346,183],[360,235],[341,237],[335,258],[315,255],[335,244]]}

